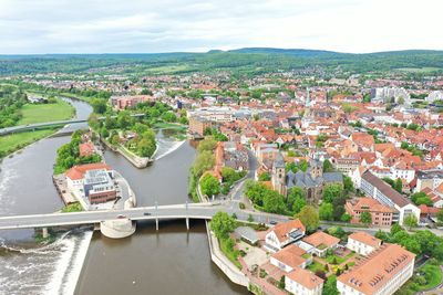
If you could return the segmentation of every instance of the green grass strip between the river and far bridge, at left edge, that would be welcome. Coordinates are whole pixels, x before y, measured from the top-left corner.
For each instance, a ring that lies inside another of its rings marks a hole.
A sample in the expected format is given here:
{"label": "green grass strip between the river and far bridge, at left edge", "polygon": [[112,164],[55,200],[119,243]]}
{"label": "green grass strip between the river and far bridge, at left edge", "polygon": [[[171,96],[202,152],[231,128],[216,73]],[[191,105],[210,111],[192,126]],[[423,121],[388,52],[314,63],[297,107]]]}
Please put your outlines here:
{"label": "green grass strip between the river and far bridge, at left edge", "polygon": [[11,154],[29,144],[53,134],[54,130],[37,130],[0,137],[0,156]]}

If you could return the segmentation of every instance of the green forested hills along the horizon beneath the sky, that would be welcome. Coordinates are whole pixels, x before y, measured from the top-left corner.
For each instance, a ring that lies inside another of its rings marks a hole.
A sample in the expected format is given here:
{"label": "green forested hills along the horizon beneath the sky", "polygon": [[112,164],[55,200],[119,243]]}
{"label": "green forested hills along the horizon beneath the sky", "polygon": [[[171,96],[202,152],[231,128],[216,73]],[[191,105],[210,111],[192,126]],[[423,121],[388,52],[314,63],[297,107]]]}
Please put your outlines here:
{"label": "green forested hills along the horizon beneath the sky", "polygon": [[[63,73],[176,74],[228,70],[245,74],[319,66],[349,73],[443,73],[443,51],[408,50],[375,53],[340,53],[323,50],[245,48],[206,53],[43,54],[0,55],[0,75]],[[117,69],[117,70],[115,70]]]}

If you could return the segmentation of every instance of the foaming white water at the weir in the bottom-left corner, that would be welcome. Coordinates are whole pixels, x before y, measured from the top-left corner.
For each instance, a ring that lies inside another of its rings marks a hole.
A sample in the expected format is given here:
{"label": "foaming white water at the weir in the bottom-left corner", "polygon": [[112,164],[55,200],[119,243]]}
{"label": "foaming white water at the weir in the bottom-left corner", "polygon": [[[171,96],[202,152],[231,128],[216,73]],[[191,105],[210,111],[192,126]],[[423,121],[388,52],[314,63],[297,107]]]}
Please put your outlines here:
{"label": "foaming white water at the weir in the bottom-left corner", "polygon": [[68,232],[29,249],[1,241],[0,294],[73,294],[91,238],[92,231]]}

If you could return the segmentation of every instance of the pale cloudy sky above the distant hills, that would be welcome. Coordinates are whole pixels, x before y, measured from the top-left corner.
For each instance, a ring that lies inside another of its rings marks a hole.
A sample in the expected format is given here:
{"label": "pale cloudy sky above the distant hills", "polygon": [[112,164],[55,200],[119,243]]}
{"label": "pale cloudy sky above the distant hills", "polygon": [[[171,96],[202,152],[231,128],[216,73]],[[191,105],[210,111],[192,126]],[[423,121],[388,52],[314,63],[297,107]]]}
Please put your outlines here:
{"label": "pale cloudy sky above the distant hills", "polygon": [[442,0],[0,0],[0,54],[443,50]]}

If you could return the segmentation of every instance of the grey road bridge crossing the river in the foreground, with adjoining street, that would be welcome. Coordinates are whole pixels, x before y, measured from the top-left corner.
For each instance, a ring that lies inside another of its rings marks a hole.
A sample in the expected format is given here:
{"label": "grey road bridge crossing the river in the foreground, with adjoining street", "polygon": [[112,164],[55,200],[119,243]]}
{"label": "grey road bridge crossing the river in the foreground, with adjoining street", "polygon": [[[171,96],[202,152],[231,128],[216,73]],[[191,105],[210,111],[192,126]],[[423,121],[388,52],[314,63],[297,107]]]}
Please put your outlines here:
{"label": "grey road bridge crossing the river in the foreground, with adjoining street", "polygon": [[190,203],[158,206],[157,208],[143,207],[125,210],[96,210],[72,213],[1,217],[0,230],[93,224],[101,221],[115,220],[119,215],[123,215],[134,221],[185,218],[209,220],[218,211],[225,211],[228,214],[235,213],[237,219],[241,221],[247,221],[249,215],[253,217],[254,221],[264,223],[269,223],[271,220],[277,222],[288,220],[286,217],[269,213],[241,211],[222,203]]}

